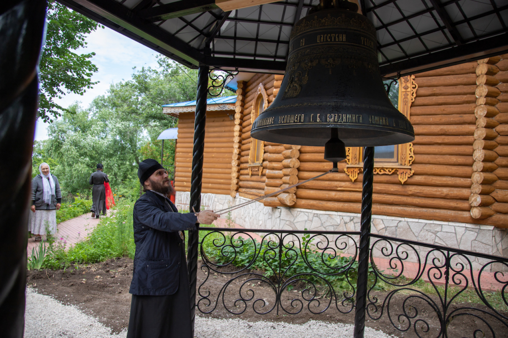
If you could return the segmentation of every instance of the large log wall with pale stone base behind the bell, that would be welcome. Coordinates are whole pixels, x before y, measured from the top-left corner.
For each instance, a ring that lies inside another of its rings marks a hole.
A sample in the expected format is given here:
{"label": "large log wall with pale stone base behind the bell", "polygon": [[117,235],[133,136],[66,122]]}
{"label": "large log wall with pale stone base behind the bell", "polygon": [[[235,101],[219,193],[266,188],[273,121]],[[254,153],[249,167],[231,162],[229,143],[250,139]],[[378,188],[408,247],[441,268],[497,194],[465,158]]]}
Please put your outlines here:
{"label": "large log wall with pale stone base behind the bell", "polygon": [[[508,227],[508,151],[503,148],[508,149],[507,64],[500,56],[414,76],[418,89],[410,106],[416,134],[412,175],[401,180],[396,172],[387,175],[380,169],[374,175],[372,232],[508,257],[508,232],[503,229]],[[293,166],[284,167],[282,161],[289,158],[282,153],[291,146],[265,143],[262,176],[248,175],[248,115],[256,87],[269,85],[271,77],[258,74],[247,84],[239,183],[243,189],[234,204],[261,195],[263,184],[264,194],[281,189],[286,174],[296,174],[301,182],[332,167],[324,160],[323,147],[307,146],[294,149],[298,156],[291,158]],[[233,219],[255,228],[358,231],[362,173],[352,180],[346,165],[342,161],[339,173],[287,192],[295,195],[294,202],[269,197],[236,210]]]}

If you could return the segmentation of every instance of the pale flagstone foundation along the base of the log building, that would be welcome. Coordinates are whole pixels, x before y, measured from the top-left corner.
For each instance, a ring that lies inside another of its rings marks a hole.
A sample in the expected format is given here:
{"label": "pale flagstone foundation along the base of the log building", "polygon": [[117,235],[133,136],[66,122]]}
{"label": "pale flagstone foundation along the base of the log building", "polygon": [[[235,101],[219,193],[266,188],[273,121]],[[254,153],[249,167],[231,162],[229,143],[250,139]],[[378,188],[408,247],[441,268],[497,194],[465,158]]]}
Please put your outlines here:
{"label": "pale flagstone foundation along the base of the log building", "polygon": [[[181,193],[177,192],[177,201],[179,194]],[[221,210],[246,201],[249,199],[240,196],[232,198],[229,195],[215,195],[212,209]],[[261,202],[254,202],[234,210],[230,216],[233,222],[245,228],[360,231],[360,214],[298,208],[272,208],[265,207]],[[371,233],[508,258],[508,230],[490,225],[372,215]],[[374,239],[371,240],[371,244],[373,241]],[[376,248],[380,249],[382,244],[379,243]],[[411,254],[411,250],[408,250],[407,247],[405,249],[410,256],[408,261],[417,261],[416,255]],[[420,257],[425,259],[428,249],[417,247],[417,250],[419,250]],[[345,252],[348,251],[345,250]],[[375,250],[374,256],[386,258],[379,250]],[[430,258],[433,257],[435,255],[430,256]],[[466,262],[464,261],[464,263]],[[485,261],[479,258],[472,261],[475,269],[481,268],[484,264]]]}

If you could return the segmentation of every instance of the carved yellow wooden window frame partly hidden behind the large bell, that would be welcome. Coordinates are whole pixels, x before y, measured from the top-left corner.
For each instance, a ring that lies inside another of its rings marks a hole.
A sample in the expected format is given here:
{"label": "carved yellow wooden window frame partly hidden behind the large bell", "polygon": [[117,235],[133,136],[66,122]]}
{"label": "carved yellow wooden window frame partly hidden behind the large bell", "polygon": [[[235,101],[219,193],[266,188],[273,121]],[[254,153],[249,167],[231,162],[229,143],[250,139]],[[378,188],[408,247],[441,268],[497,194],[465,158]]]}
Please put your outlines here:
{"label": "carved yellow wooden window frame partly hidden behind the large bell", "polygon": [[[399,112],[404,114],[407,119],[410,117],[411,103],[416,97],[418,85],[415,82],[415,76],[404,76],[399,79]],[[396,145],[398,153],[397,162],[374,161],[374,174],[391,175],[397,172],[399,181],[404,182],[415,172],[411,169],[411,164],[415,160],[413,144],[404,143]],[[346,167],[344,171],[353,182],[358,178],[358,174],[363,171],[363,151],[361,147],[346,147]]]}

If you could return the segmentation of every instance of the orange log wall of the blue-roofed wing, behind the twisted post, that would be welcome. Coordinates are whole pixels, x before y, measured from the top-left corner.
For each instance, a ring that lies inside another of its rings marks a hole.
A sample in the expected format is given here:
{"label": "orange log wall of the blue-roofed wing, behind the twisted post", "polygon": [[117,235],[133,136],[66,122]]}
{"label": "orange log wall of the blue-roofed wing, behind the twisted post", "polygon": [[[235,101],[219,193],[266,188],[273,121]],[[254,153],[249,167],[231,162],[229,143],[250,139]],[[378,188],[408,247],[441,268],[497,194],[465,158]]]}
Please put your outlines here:
{"label": "orange log wall of the blue-roofed wing, behind the twisted post", "polygon": [[[202,193],[230,194],[231,154],[235,128],[235,121],[231,120],[230,116],[234,114],[234,110],[206,113]],[[194,113],[180,113],[175,153],[175,190],[177,192],[190,191],[193,143]]]}

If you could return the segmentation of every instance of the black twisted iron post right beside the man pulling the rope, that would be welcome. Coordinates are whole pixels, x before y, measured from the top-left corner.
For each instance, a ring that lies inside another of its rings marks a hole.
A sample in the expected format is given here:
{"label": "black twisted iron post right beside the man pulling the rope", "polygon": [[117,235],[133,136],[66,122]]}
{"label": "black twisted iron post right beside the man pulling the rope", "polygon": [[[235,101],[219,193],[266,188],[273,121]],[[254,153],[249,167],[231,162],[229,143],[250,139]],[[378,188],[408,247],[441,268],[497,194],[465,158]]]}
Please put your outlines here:
{"label": "black twisted iron post right beside the man pulling the rope", "polygon": [[[198,71],[198,97],[196,100],[196,119],[194,121],[194,148],[192,158],[192,176],[190,177],[189,210],[196,212],[201,208],[201,184],[203,181],[203,153],[205,150],[206,98],[208,95],[208,66],[200,66]],[[190,288],[190,317],[194,335],[196,320],[196,284],[198,273],[198,240],[197,229],[189,231],[187,242],[187,271]]]}

